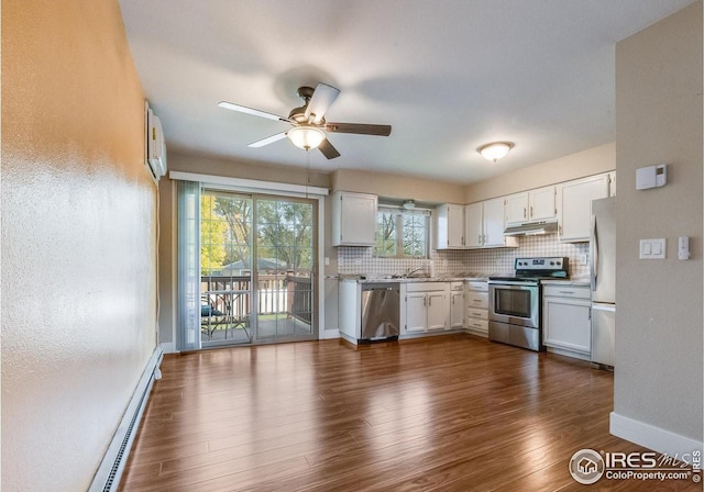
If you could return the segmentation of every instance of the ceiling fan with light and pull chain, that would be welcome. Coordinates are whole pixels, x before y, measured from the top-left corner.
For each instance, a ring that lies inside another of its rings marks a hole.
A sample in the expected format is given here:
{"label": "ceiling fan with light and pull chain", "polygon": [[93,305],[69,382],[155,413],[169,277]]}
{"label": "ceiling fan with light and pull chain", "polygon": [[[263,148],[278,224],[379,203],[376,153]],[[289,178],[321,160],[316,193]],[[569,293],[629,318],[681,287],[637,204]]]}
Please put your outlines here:
{"label": "ceiling fan with light and pull chain", "polygon": [[298,97],[302,99],[304,105],[294,108],[290,113],[288,113],[288,118],[227,101],[221,101],[218,105],[228,110],[240,111],[241,113],[283,121],[293,126],[293,128],[286,132],[280,132],[266,138],[262,138],[261,141],[253,142],[249,147],[263,147],[264,145],[288,137],[297,147],[306,150],[318,148],[328,159],[334,159],[336,157],[340,157],[340,153],[332,146],[330,141],[328,141],[326,132],[376,136],[391,135],[391,125],[327,122],[324,114],[339,94],[340,89],[322,82],[318,83],[318,87],[316,87],[315,90],[311,87],[299,87]]}

